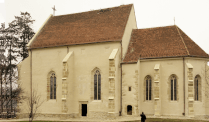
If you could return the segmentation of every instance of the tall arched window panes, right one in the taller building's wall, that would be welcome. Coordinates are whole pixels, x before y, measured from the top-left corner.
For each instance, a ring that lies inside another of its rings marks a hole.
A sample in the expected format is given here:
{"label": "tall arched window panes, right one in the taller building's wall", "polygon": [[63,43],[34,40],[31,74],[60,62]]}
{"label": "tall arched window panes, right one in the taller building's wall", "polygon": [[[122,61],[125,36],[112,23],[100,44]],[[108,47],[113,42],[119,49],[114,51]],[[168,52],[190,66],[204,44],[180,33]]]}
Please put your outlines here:
{"label": "tall arched window panes, right one in the taller building's wall", "polygon": [[94,74],[94,100],[101,100],[101,74],[96,70]]}

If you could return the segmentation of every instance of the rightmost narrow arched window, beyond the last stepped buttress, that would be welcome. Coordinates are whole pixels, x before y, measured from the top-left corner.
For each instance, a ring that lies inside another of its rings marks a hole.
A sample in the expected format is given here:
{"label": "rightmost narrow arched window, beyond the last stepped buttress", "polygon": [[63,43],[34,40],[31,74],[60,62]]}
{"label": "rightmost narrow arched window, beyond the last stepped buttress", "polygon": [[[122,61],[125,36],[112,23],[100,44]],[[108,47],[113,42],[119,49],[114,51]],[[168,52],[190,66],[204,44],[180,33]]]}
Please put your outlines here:
{"label": "rightmost narrow arched window, beyond the last stepped buttress", "polygon": [[195,99],[195,101],[200,101],[200,96],[201,96],[201,81],[200,81],[200,76],[197,75],[197,76],[195,76],[195,80],[194,80],[194,99]]}

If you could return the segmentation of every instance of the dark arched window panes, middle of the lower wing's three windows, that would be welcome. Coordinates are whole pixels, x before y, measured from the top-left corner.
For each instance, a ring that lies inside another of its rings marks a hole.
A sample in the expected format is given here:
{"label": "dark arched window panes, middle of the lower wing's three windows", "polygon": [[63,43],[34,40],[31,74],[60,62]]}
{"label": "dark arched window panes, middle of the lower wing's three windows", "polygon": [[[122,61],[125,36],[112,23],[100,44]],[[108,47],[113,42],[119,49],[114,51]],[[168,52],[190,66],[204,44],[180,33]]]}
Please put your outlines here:
{"label": "dark arched window panes, middle of the lower wing's three windows", "polygon": [[177,100],[177,81],[176,76],[172,75],[170,78],[171,82],[171,100],[175,101]]}

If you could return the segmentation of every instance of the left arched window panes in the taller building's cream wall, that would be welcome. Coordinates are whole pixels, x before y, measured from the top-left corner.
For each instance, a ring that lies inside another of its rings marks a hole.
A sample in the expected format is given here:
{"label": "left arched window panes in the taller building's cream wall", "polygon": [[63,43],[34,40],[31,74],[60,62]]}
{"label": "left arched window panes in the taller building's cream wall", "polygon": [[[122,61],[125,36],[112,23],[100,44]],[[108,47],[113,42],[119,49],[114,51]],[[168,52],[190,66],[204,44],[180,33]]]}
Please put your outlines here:
{"label": "left arched window panes in the taller building's cream wall", "polygon": [[56,99],[56,76],[52,73],[50,76],[50,99]]}

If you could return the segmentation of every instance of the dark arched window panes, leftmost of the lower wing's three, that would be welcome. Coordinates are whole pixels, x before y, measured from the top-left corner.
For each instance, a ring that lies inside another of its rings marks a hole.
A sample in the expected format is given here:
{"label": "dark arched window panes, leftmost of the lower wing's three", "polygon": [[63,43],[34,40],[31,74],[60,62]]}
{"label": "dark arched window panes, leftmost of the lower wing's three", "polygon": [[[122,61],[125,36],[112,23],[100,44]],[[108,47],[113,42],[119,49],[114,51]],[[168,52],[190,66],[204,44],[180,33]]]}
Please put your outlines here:
{"label": "dark arched window panes, leftmost of the lower wing's three", "polygon": [[152,100],[152,80],[150,76],[145,78],[146,100]]}

